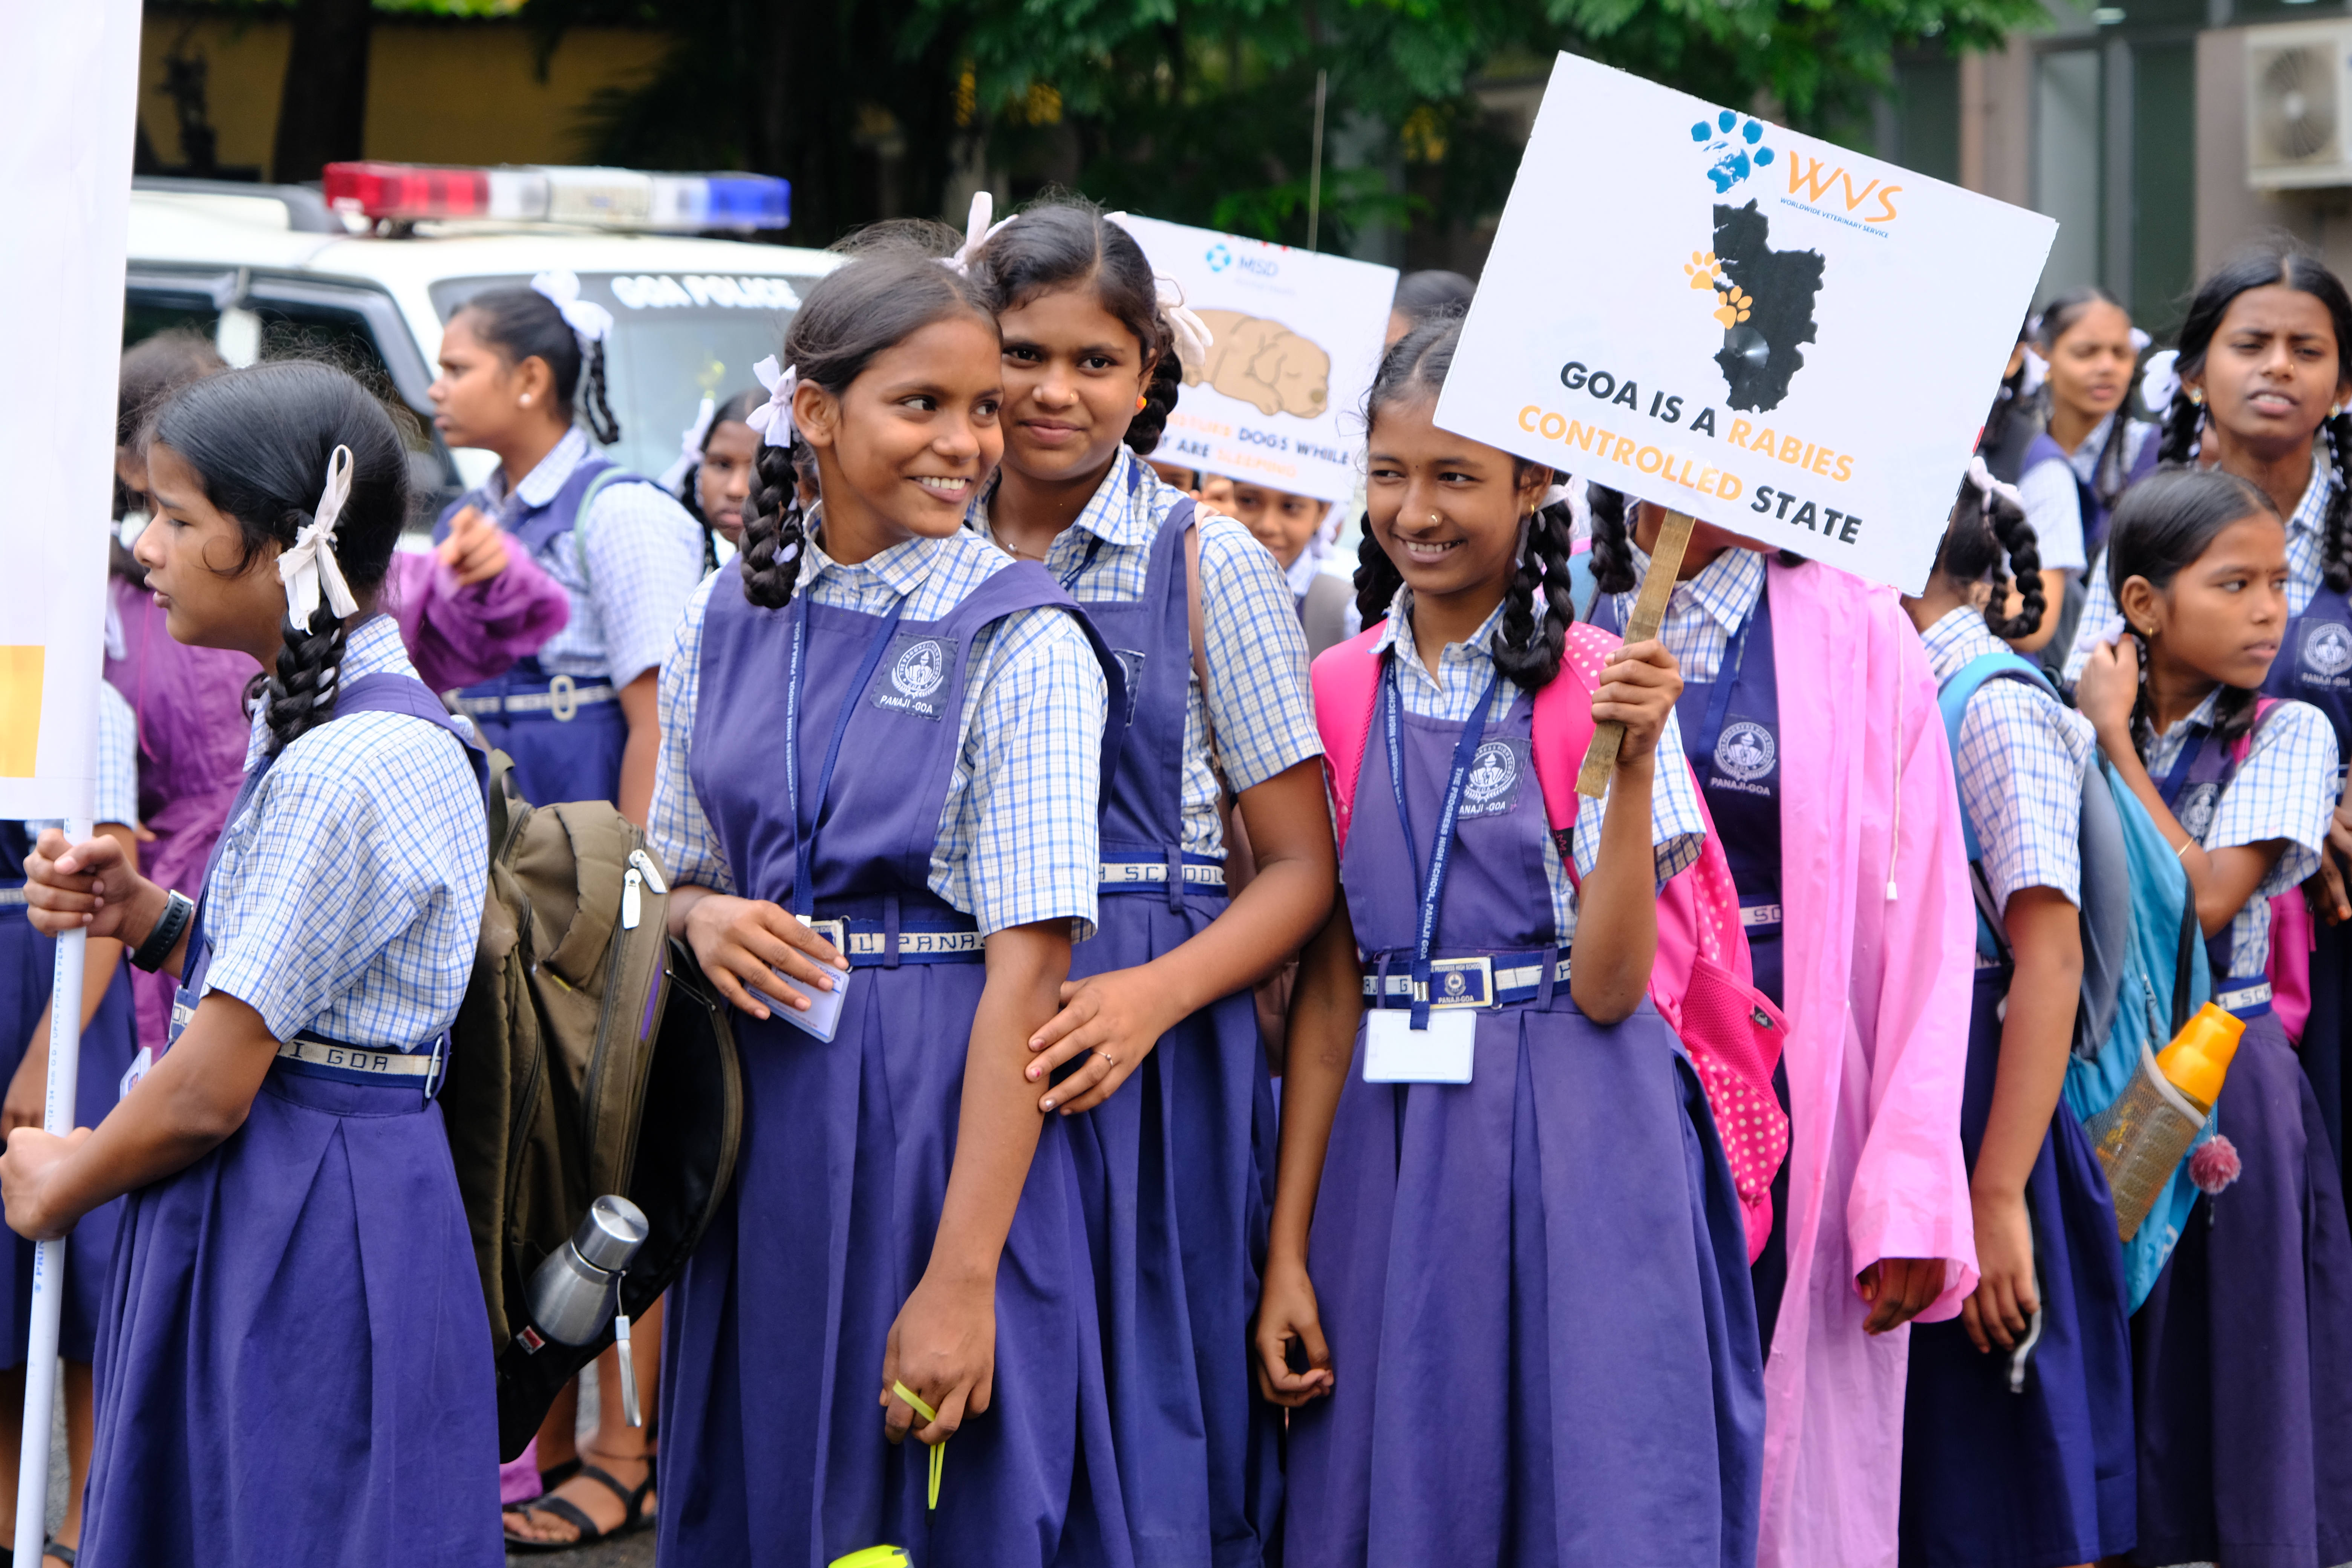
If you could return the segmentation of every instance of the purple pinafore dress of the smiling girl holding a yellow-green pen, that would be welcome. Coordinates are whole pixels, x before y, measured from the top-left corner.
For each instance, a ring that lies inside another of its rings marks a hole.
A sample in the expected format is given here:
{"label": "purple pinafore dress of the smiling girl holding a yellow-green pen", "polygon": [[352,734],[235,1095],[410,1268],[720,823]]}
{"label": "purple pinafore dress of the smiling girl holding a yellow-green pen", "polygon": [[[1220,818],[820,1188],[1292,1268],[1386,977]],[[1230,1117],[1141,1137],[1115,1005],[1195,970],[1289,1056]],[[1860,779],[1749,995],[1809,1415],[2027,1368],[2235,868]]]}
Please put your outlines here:
{"label": "purple pinafore dress of the smiling girl holding a yellow-green pen", "polygon": [[[924,1568],[1134,1563],[1065,1119],[1037,1138],[997,1269],[995,1392],[948,1443],[934,1519],[927,1450],[891,1448],[877,1403],[988,978],[971,917],[929,889],[971,637],[1035,607],[1077,614],[1033,564],[931,623],[804,597],[757,609],[734,571],[710,590],[696,799],[746,898],[840,922],[826,931],[851,978],[833,1041],[734,1016],[743,1154],[666,1307],[659,1556],[675,1568],[823,1568],[875,1544]],[[1115,729],[1117,663],[1096,654]]]}

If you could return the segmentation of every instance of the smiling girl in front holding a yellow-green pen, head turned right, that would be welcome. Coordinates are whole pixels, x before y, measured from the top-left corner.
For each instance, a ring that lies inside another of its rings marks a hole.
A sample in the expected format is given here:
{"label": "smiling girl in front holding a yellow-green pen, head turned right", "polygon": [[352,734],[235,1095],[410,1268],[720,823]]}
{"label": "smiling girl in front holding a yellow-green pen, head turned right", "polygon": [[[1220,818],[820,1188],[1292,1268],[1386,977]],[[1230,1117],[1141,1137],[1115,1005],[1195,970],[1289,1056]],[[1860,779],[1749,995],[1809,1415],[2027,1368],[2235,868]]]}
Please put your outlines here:
{"label": "smiling girl in front holding a yellow-green pen, head turned right", "polygon": [[736,1009],[743,1157],[668,1295],[659,1556],[1129,1563],[1075,1124],[1023,1077],[1094,926],[1117,663],[962,527],[1002,451],[969,280],[866,254],[783,357],[741,564],[661,675],[652,842]]}

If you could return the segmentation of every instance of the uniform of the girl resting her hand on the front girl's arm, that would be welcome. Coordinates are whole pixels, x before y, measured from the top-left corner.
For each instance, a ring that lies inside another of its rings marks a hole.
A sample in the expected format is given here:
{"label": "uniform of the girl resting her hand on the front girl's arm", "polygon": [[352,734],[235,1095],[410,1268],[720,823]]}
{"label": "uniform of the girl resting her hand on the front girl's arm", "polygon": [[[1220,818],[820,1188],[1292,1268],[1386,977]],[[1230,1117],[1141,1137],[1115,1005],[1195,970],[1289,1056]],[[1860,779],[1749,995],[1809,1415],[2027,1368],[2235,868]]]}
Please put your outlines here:
{"label": "uniform of the girl resting her hand on the front girl's arm", "polygon": [[[974,501],[990,536],[997,494]],[[1200,531],[1192,668],[1185,534]],[[1195,512],[1120,449],[1044,569],[1127,672],[1127,741],[1103,813],[1101,926],[1070,978],[1134,969],[1225,912],[1218,792],[1322,755],[1308,658],[1275,557],[1230,517]],[[1216,766],[1211,766],[1211,736]],[[1223,780],[1218,778],[1223,771]],[[1258,1300],[1275,1185],[1275,1098],[1249,990],[1169,1030],[1073,1124],[1136,1563],[1256,1568],[1282,1509],[1279,1410],[1256,1394]]]}

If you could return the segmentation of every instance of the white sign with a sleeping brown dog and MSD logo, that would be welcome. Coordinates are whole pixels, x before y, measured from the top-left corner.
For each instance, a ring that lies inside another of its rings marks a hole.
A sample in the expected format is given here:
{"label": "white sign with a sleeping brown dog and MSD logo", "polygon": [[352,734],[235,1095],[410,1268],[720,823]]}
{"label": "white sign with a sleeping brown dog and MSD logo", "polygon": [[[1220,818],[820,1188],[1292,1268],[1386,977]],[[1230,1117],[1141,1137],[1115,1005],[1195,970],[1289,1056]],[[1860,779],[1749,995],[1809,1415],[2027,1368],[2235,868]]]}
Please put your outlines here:
{"label": "white sign with a sleeping brown dog and MSD logo", "polygon": [[1395,268],[1122,216],[1216,343],[1152,454],[1317,501],[1345,501]]}

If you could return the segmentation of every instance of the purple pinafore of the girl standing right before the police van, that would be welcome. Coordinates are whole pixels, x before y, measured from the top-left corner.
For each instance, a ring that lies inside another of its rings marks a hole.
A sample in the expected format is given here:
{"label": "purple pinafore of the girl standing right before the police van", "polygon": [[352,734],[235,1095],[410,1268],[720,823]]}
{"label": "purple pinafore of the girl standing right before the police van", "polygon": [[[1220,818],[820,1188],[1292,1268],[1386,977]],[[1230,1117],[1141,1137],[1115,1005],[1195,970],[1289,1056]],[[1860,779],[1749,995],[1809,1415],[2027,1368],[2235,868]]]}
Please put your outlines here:
{"label": "purple pinafore of the girl standing right before the police van", "polygon": [[[572,531],[593,491],[614,484],[652,484],[652,480],[590,456],[581,458],[546,505],[529,505],[520,494],[496,501],[485,491],[468,491],[442,508],[433,524],[433,543],[449,538],[449,520],[473,505],[496,517],[499,527],[536,557]],[[590,701],[579,701],[579,693],[588,693]],[[539,658],[529,656],[517,658],[506,675],[466,686],[459,705],[482,729],[485,745],[515,759],[515,788],[522,790],[522,799],[541,806],[562,799],[621,799],[628,719],[609,679],[576,682],[569,675],[548,675]]]}

